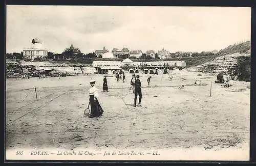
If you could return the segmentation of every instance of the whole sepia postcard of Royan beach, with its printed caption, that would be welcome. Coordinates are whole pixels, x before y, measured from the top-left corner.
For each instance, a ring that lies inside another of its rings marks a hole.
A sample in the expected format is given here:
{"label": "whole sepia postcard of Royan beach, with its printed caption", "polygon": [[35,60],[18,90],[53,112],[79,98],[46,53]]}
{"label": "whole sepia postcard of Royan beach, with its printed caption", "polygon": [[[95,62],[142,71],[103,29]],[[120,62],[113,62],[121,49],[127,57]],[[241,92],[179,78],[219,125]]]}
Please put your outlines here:
{"label": "whole sepia postcard of Royan beach, with its printed caption", "polygon": [[249,160],[251,8],[6,6],[6,160]]}

